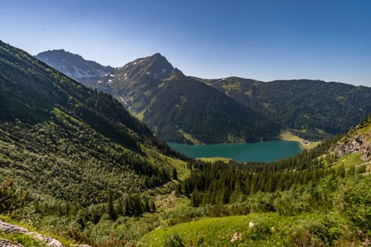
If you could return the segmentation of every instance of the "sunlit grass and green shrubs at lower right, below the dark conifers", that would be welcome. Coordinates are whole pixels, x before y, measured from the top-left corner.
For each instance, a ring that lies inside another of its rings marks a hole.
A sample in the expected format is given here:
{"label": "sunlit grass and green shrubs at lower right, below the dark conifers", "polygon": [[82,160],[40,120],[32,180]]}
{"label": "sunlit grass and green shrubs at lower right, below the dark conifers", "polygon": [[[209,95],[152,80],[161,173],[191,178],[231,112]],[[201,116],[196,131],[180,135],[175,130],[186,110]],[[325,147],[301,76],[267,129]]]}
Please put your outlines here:
{"label": "sunlit grass and green shrubs at lower right, below the dark conifers", "polygon": [[[270,210],[264,209],[269,200],[252,197],[249,210],[255,212],[247,210],[247,215],[205,217],[160,227],[143,236],[141,243],[143,246],[172,246],[169,243],[180,241],[184,246],[363,246],[370,241],[370,179],[368,175],[354,181],[353,178],[335,181],[332,184],[335,189],[319,194],[326,196],[326,203],[331,205],[325,210],[311,207],[310,193],[300,190],[291,191],[292,194],[285,192],[272,200]],[[331,183],[322,181],[321,186]],[[293,197],[296,199],[292,200]],[[286,205],[283,206],[282,200],[287,200]],[[293,212],[290,207],[301,208]],[[228,214],[228,210],[224,212]],[[175,236],[179,236],[179,241],[174,241]]]}

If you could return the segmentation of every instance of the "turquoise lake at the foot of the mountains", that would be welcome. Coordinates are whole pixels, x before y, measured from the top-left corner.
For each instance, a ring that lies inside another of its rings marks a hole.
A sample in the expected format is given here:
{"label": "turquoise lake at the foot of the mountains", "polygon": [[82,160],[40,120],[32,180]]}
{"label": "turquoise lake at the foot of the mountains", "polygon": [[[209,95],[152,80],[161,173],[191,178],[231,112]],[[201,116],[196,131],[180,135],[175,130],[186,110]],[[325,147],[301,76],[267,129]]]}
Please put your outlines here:
{"label": "turquoise lake at the foot of the mountains", "polygon": [[302,152],[300,143],[288,140],[212,145],[167,144],[178,152],[193,158],[225,157],[240,162],[273,162]]}

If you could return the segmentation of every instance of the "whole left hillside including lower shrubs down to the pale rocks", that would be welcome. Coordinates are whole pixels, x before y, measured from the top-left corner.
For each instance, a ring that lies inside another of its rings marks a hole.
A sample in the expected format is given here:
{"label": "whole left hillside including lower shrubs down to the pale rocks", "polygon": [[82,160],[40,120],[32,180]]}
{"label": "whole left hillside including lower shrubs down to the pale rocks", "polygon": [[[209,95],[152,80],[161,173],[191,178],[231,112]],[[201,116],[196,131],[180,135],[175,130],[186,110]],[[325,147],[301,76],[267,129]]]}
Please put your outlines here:
{"label": "whole left hillside including lower shrubs down to the pale rocks", "polygon": [[87,222],[154,212],[158,186],[189,174],[112,96],[3,42],[0,97],[0,213],[12,220],[105,246],[110,234],[81,234]]}

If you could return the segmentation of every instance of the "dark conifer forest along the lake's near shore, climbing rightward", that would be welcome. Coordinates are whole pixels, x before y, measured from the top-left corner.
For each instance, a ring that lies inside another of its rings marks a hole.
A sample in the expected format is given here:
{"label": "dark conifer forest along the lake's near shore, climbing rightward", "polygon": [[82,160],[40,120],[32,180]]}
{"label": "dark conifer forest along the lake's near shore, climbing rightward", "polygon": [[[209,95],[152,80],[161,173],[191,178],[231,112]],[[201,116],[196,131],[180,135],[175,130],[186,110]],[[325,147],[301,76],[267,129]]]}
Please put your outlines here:
{"label": "dark conifer forest along the lake's near shore, climbing rightward", "polygon": [[[340,137],[339,137],[340,138]],[[270,164],[249,162],[247,164],[229,162],[189,162],[192,173],[177,186],[177,193],[190,195],[192,205],[224,205],[235,203],[242,195],[254,193],[273,193],[287,191],[293,186],[300,186],[311,181],[318,181],[325,176],[344,177],[344,167],[326,168],[328,159],[319,158],[336,143],[338,138],[329,140],[314,150],[304,151],[288,159]],[[354,174],[355,171],[351,170]]]}

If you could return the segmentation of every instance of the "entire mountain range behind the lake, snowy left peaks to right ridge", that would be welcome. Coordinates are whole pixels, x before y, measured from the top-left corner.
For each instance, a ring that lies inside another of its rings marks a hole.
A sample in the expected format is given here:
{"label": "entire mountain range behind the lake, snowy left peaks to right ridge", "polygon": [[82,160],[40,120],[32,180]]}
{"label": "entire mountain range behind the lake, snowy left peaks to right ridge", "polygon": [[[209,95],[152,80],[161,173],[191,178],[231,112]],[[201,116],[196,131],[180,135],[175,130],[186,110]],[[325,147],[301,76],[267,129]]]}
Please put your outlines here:
{"label": "entire mountain range behind the lake, snowy left peaks to right ridge", "polygon": [[[70,59],[73,56],[79,59]],[[86,70],[91,61],[73,56],[58,50],[36,57],[67,76],[74,71],[99,74],[106,68]],[[86,83],[85,77],[73,78],[110,93],[158,137],[175,143],[275,140],[282,131],[324,140],[346,132],[371,112],[371,88],[320,80],[194,78],[184,76],[160,54],[108,71],[95,78],[95,84]]]}

